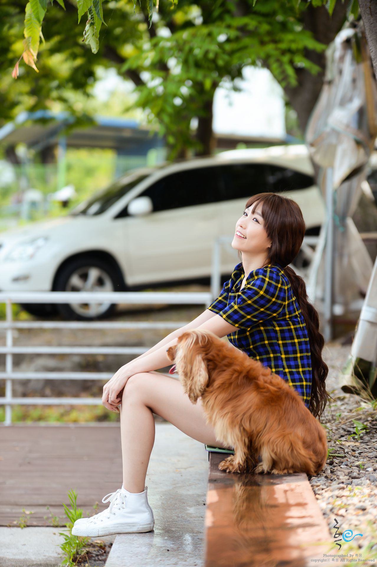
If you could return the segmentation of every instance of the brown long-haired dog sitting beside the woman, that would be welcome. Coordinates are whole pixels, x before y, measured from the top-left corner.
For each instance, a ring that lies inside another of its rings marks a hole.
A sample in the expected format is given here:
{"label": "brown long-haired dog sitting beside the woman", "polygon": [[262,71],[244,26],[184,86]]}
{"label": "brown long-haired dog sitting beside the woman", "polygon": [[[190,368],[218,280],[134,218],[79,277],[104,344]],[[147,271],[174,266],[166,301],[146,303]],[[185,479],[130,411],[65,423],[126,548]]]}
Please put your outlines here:
{"label": "brown long-haired dog sitting beside the woman", "polygon": [[[191,329],[167,349],[193,404],[199,397],[216,438],[234,447],[227,472],[318,474],[327,435],[299,394],[271,369],[209,331]],[[258,456],[262,462],[258,463]]]}

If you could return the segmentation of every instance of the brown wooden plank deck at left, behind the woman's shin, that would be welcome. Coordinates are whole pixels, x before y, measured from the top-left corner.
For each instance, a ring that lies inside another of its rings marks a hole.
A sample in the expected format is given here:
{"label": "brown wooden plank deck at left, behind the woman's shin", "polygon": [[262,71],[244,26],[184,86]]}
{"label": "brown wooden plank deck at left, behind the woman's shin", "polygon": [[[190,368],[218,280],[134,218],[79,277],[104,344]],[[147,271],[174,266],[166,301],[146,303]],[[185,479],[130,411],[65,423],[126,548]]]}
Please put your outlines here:
{"label": "brown wooden plank deck at left, behind the woman's shin", "polygon": [[[93,515],[98,495],[122,486],[119,424],[2,426],[0,471],[0,526],[16,525],[23,508],[33,511],[28,526],[52,526],[48,505],[64,526],[71,489],[83,515]],[[108,507],[98,503],[98,512]]]}

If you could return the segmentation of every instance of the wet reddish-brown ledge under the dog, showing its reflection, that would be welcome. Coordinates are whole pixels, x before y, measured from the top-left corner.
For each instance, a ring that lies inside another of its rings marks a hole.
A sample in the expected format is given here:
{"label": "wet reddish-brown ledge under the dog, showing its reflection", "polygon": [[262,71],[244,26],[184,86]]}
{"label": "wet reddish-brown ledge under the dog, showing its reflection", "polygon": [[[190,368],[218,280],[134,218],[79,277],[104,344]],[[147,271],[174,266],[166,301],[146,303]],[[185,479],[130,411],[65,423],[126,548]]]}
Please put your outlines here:
{"label": "wet reddish-brown ledge under the dog, showing its reflection", "polygon": [[218,468],[226,456],[209,457],[205,567],[303,567],[331,553],[333,540],[305,474],[226,473]]}

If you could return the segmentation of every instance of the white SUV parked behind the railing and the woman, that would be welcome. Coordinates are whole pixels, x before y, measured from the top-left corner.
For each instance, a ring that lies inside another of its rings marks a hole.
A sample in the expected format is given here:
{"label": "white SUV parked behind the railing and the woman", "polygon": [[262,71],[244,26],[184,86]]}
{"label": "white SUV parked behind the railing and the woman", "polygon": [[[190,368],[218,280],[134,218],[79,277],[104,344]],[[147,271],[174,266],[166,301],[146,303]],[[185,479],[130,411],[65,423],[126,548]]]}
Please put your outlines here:
{"label": "white SUV parked behind the railing and the woman", "polygon": [[[0,290],[124,291],[209,278],[213,242],[233,236],[247,199],[265,191],[294,198],[307,234],[318,234],[325,206],[305,145],[225,151],[134,170],[64,217],[0,234]],[[222,274],[235,261],[224,250]],[[114,306],[24,307],[93,319]]]}

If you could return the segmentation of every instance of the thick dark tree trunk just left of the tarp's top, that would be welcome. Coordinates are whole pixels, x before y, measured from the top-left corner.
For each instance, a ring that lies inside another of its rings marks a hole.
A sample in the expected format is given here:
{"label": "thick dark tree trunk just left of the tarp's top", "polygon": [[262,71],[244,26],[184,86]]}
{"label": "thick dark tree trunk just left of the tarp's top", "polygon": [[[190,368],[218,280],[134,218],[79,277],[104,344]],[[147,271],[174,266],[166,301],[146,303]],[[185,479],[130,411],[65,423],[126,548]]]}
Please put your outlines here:
{"label": "thick dark tree trunk just left of the tarp's top", "polygon": [[[365,1],[376,2],[377,0]],[[337,2],[332,16],[330,16],[325,6],[314,7],[310,4],[302,14],[303,27],[311,31],[317,41],[328,45],[340,31],[346,18],[346,9],[346,3]],[[290,104],[297,112],[302,134],[305,132],[310,113],[322,89],[325,72],[325,52],[317,53],[316,51],[306,50],[305,57],[321,67],[322,71],[312,75],[306,69],[296,69],[297,86],[284,88]]]}

